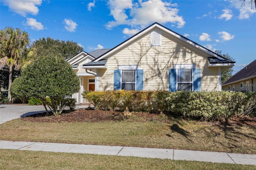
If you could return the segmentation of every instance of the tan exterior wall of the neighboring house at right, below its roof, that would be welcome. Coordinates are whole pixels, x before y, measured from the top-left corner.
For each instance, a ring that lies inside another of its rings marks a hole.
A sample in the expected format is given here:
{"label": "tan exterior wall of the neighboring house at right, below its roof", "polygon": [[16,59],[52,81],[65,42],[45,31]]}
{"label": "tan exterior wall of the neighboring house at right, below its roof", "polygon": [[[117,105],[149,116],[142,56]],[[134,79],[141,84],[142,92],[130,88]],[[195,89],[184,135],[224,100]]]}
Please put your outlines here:
{"label": "tan exterior wall of the neighboring house at right, below its roof", "polygon": [[[249,82],[249,91],[256,92],[256,78],[239,81],[237,83],[232,83],[230,85],[225,85],[222,87],[222,89],[228,91],[228,86],[230,86],[230,91],[233,91],[233,86],[234,86],[234,91],[246,91],[246,82],[247,81]],[[242,87],[242,88],[240,86],[241,83],[244,83],[244,87]]]}

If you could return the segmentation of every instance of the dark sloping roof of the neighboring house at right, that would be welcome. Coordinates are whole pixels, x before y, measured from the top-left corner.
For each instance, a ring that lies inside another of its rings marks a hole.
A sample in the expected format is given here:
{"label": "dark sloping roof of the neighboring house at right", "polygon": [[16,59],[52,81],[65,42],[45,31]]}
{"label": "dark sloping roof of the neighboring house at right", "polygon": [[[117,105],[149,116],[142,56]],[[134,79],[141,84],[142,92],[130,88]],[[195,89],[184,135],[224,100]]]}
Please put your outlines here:
{"label": "dark sloping roof of the neighboring house at right", "polygon": [[235,75],[230,77],[230,79],[225,81],[222,85],[226,85],[228,83],[232,83],[249,77],[256,77],[256,60],[252,61],[242,70],[238,71]]}

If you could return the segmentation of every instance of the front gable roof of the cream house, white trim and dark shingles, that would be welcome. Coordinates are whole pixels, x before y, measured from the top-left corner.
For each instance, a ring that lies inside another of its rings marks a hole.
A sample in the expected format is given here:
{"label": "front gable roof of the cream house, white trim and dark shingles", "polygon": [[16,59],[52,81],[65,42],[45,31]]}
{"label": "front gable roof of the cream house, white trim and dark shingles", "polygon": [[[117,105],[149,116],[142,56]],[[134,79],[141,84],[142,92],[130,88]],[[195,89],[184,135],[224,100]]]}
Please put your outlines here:
{"label": "front gable roof of the cream house, white trim and dark shingles", "polygon": [[148,26],[144,30],[138,32],[134,36],[128,38],[126,41],[120,43],[119,45],[117,45],[116,47],[110,49],[106,53],[104,53],[104,54],[100,55],[99,57],[95,58],[91,62],[100,61],[101,59],[105,59],[106,57],[108,57],[109,55],[111,55],[112,53],[117,51],[118,49],[122,48],[124,45],[132,42],[133,40],[135,40],[139,36],[142,36],[143,34],[146,34],[146,32],[149,32],[150,30],[152,30],[154,28],[159,28],[160,30],[163,30],[163,31],[167,32],[168,34],[170,34],[170,35],[172,35],[172,36],[182,40],[183,42],[186,42],[186,43],[188,43],[188,44],[190,44],[190,45],[200,49],[201,51],[204,51],[204,52],[208,53],[209,55],[211,55],[211,58],[208,59],[208,60],[212,64],[214,64],[214,63],[224,64],[225,63],[225,64],[231,64],[233,66],[236,63],[235,61],[231,61],[229,59],[226,59],[226,58],[222,57],[221,55],[218,55],[217,53],[214,53],[210,49],[207,49],[206,47],[203,47],[202,45],[199,45],[198,43],[193,42],[192,40],[189,40],[188,38],[186,38],[186,37],[184,37],[184,36],[174,32],[172,30],[170,30],[169,28],[166,28],[165,26],[162,26],[161,24],[158,24],[157,22],[155,22],[154,24]]}

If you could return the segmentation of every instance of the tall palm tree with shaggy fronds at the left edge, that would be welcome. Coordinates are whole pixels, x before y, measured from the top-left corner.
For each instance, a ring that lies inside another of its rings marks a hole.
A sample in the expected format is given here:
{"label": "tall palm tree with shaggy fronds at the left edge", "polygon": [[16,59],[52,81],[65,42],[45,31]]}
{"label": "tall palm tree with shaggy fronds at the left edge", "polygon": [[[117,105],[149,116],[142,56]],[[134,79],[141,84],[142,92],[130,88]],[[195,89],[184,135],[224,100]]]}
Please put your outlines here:
{"label": "tall palm tree with shaggy fronds at the left edge", "polygon": [[6,27],[0,30],[0,65],[9,67],[8,103],[11,103],[10,87],[12,69],[22,69],[32,61],[36,50],[28,48],[30,39],[27,32],[19,28]]}

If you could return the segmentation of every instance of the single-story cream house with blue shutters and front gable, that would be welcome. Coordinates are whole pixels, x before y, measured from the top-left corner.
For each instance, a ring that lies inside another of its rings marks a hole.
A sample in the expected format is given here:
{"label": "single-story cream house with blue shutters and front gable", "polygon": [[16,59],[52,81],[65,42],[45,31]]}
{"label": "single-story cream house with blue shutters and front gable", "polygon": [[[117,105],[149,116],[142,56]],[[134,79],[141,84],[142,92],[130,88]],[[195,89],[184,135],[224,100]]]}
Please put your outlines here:
{"label": "single-story cream house with blue shutters and front gable", "polygon": [[78,103],[88,90],[221,91],[221,73],[235,65],[158,23],[112,49],[67,61],[81,79]]}

